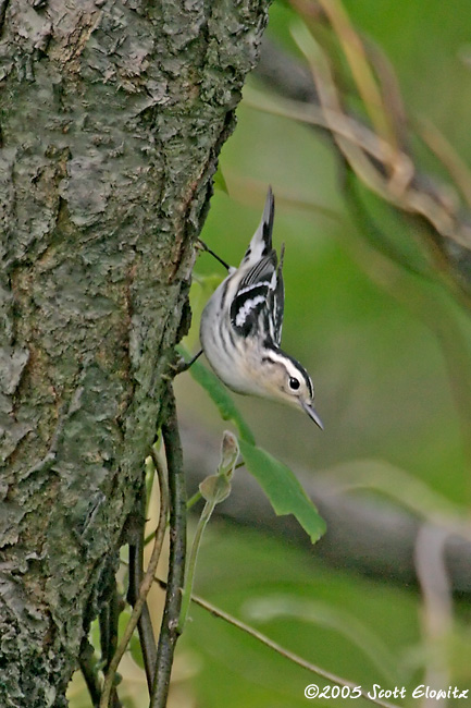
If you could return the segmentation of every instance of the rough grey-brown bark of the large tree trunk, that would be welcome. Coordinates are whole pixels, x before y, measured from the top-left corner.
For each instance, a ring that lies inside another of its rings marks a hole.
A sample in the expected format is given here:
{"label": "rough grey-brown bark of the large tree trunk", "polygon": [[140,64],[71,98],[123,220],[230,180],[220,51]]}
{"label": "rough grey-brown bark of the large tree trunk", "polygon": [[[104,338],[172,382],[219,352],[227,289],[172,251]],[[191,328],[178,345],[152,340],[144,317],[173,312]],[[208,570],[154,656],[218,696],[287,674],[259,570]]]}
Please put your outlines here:
{"label": "rough grey-brown bark of the large tree trunk", "polygon": [[0,1],[0,705],[64,706],[268,0]]}

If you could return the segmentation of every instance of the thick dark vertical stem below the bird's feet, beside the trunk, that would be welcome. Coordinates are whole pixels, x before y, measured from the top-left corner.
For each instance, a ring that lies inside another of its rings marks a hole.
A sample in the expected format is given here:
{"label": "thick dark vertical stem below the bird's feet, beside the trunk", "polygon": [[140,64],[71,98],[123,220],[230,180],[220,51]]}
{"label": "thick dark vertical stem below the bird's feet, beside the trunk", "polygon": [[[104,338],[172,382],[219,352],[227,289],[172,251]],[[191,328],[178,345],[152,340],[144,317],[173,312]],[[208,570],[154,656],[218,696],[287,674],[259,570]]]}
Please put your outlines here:
{"label": "thick dark vertical stem below the bird's feet, beside the trunk", "polygon": [[157,648],[157,664],[149,708],[165,708],[173,656],[178,639],[178,618],[185,581],[186,490],[182,444],[176,419],[175,399],[169,386],[168,417],[162,425],[170,492],[169,581],[162,626]]}

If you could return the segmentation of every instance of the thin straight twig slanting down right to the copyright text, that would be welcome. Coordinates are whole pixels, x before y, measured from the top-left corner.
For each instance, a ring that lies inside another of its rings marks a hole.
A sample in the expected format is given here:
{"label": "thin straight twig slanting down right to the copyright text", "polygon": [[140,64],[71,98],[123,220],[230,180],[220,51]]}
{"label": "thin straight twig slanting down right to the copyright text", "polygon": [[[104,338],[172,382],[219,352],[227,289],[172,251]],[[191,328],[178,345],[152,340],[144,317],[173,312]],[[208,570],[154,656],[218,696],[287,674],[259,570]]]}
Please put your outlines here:
{"label": "thin straight twig slanting down right to the copyright text", "polygon": [[[166,588],[166,583],[164,583],[158,577],[156,577],[154,579],[162,589]],[[347,679],[343,679],[342,676],[338,676],[337,674],[332,673],[331,671],[326,671],[325,669],[318,667],[315,663],[311,663],[310,661],[302,659],[302,657],[299,657],[297,654],[289,651],[289,649],[285,649],[285,647],[282,647],[281,644],[273,642],[273,639],[270,639],[267,635],[262,634],[261,632],[258,632],[249,624],[246,624],[245,622],[238,620],[234,615],[224,612],[224,610],[221,610],[215,605],[212,605],[212,602],[208,602],[208,600],[203,600],[202,597],[199,597],[198,595],[191,595],[191,601],[195,602],[195,605],[201,607],[203,610],[207,610],[207,612],[210,612],[213,617],[216,617],[220,620],[224,620],[224,622],[232,624],[233,626],[237,627],[238,630],[241,630],[243,632],[250,635],[258,642],[261,642],[261,644],[264,644],[270,649],[273,649],[273,651],[276,651],[276,654],[280,654],[282,657],[285,657],[285,659],[293,661],[293,663],[296,663],[298,667],[301,667],[302,669],[307,669],[311,673],[315,673],[318,676],[321,676],[322,679],[325,679],[326,681],[330,681],[331,683],[334,683],[337,686],[347,686],[348,688],[359,688],[361,696],[367,700],[369,700],[370,703],[375,704],[376,706],[381,706],[382,708],[399,708],[397,704],[392,704],[388,703],[387,700],[381,700],[380,698],[372,698],[371,696],[368,695],[368,692],[362,691],[361,686],[355,683],[355,681],[348,681]]]}

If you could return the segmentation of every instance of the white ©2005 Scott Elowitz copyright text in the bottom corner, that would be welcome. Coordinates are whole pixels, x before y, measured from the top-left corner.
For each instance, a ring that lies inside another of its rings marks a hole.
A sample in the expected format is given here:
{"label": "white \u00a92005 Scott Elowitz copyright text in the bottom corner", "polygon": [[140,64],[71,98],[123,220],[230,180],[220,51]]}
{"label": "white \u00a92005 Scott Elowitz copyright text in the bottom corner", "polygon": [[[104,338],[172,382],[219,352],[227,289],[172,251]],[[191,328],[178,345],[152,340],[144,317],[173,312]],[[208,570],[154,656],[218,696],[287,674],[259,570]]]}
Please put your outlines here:
{"label": "white \u00a92005 Scott Elowitz copyright text in the bottom corner", "polygon": [[306,698],[431,698],[442,700],[444,698],[470,698],[469,688],[458,688],[458,686],[447,686],[446,688],[432,688],[425,684],[420,684],[416,688],[407,689],[406,686],[395,686],[394,688],[383,688],[379,683],[373,684],[370,688],[362,686],[318,686],[317,683],[310,683],[305,688]]}

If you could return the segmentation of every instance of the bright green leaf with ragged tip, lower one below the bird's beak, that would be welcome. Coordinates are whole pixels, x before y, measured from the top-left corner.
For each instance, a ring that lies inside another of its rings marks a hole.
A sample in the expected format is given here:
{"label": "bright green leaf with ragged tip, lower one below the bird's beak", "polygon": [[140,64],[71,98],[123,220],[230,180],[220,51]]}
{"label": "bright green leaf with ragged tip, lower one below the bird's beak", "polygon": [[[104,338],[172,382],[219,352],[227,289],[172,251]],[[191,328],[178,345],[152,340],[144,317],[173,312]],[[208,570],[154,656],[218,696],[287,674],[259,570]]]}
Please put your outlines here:
{"label": "bright green leaf with ragged tip, lower one below the bird's beak", "polygon": [[296,516],[315,544],[325,533],[325,522],[289,467],[247,439],[243,438],[239,443],[248,471],[262,487],[275,513]]}

